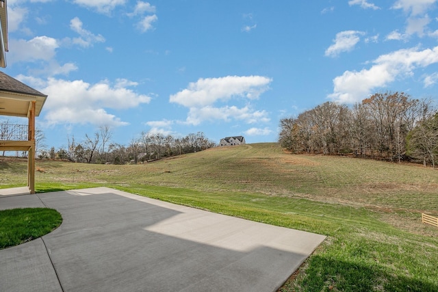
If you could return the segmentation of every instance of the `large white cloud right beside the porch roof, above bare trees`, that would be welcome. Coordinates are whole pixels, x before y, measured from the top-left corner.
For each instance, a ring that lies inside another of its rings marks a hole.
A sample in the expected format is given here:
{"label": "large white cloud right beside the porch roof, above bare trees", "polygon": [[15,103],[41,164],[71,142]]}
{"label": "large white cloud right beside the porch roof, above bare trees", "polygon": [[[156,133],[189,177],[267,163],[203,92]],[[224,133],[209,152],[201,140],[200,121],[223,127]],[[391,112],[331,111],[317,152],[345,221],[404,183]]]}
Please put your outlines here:
{"label": "large white cloud right beside the porch roof, above bare trees", "polygon": [[129,109],[151,101],[149,96],[137,94],[127,88],[113,87],[108,81],[90,84],[82,80],[55,78],[43,80],[21,76],[18,79],[27,81],[49,96],[44,104],[44,122],[49,125],[123,126],[129,123],[109,114],[107,109]]}

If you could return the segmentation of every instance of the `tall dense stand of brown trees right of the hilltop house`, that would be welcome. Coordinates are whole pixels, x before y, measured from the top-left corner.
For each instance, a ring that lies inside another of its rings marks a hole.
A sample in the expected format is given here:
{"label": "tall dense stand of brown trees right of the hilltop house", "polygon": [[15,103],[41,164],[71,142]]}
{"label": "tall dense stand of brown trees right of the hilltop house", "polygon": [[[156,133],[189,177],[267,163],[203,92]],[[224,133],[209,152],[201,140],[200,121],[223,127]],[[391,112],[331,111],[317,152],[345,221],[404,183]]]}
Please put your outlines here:
{"label": "tall dense stand of brown trees right of the hilltop house", "polygon": [[404,92],[376,93],[352,107],[326,102],[297,118],[283,118],[279,142],[293,152],[350,153],[391,161],[409,156],[435,165],[434,122],[437,114],[430,100]]}

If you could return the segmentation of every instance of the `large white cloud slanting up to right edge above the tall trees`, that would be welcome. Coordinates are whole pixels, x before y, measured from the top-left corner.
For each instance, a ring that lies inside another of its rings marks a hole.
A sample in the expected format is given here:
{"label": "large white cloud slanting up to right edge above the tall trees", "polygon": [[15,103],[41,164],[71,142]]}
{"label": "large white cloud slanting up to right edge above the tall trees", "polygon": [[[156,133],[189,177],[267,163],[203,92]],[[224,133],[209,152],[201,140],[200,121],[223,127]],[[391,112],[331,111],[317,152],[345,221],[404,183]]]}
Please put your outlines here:
{"label": "large white cloud slanting up to right edge above the tall trees", "polygon": [[437,62],[438,47],[423,51],[402,49],[381,55],[370,69],[346,71],[333,79],[334,90],[329,98],[340,103],[355,103],[367,98],[375,88],[387,86],[398,77],[411,76],[415,69]]}

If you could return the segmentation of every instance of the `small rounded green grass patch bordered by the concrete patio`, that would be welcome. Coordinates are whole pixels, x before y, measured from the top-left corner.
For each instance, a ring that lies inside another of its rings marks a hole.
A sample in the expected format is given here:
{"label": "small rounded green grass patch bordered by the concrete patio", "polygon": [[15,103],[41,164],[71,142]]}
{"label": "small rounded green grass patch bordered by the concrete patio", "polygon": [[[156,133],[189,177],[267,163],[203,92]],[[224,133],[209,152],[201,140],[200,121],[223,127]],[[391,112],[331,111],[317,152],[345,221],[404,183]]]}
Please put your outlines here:
{"label": "small rounded green grass patch bordered by the concrete patio", "polygon": [[48,208],[0,211],[0,249],[42,237],[61,223],[61,214]]}

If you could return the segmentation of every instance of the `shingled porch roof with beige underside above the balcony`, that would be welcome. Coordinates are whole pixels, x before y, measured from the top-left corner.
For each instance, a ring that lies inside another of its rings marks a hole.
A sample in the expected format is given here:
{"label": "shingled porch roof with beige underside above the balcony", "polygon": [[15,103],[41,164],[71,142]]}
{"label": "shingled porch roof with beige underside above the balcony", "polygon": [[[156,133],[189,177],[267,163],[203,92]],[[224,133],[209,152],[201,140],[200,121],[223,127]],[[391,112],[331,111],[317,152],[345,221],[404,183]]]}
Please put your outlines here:
{"label": "shingled porch roof with beige underside above the balcony", "polygon": [[0,72],[0,116],[27,117],[30,103],[36,102],[35,115],[39,116],[47,95]]}

